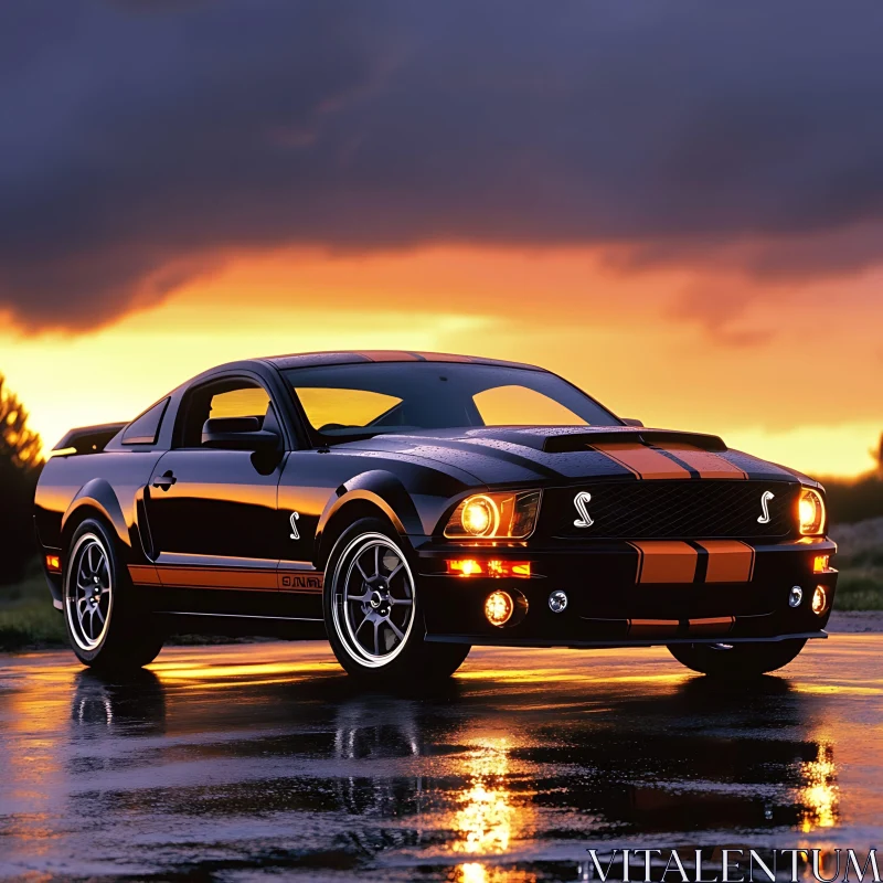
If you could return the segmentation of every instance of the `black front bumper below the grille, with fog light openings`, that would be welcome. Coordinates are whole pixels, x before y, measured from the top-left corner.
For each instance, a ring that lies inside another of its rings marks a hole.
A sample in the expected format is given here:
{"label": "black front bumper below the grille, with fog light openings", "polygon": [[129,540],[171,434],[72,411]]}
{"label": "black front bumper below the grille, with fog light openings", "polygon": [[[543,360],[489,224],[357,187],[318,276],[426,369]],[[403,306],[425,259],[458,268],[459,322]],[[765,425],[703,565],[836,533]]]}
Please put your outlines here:
{"label": "black front bumper below the grille, with fog light openings", "polygon": [[[426,639],[513,647],[646,647],[827,637],[837,571],[815,573],[813,565],[818,556],[834,554],[834,543],[805,539],[748,549],[751,572],[738,582],[709,582],[710,567],[699,568],[693,582],[641,582],[641,552],[627,542],[544,549],[426,543],[417,547]],[[531,576],[447,573],[447,561],[466,557],[530,562]],[[788,603],[792,586],[804,592],[797,607]],[[811,607],[817,586],[827,593],[820,615]],[[502,627],[488,621],[485,602],[496,589],[526,602],[520,620]],[[557,589],[568,599],[562,613],[549,606],[550,594]]]}

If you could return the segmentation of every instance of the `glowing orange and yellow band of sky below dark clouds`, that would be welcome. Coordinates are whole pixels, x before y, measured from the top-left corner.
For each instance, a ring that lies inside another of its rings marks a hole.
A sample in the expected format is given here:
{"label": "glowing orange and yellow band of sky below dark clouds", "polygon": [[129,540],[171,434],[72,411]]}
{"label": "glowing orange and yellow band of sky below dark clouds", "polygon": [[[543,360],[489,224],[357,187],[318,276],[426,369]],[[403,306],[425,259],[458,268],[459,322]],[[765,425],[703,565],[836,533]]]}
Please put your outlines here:
{"label": "glowing orange and yellow band of sky below dark clouds", "polygon": [[72,425],[129,418],[232,359],[479,353],[545,365],[648,424],[719,433],[810,472],[855,474],[883,429],[868,368],[879,366],[883,307],[870,295],[880,283],[858,279],[849,297],[831,283],[775,299],[752,289],[724,327],[755,337],[733,345],[689,309],[691,285],[714,285],[689,268],[626,273],[584,249],[234,254],[216,275],[98,331],[0,333],[0,366],[54,443]]}

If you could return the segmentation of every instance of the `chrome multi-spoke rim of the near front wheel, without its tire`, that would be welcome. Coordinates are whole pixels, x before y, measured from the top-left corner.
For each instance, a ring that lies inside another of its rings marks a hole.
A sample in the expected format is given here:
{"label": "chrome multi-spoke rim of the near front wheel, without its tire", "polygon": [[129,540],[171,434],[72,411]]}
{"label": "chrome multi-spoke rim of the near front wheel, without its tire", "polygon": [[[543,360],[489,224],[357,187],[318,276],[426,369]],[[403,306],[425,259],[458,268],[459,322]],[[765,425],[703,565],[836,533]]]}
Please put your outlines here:
{"label": "chrome multi-spoke rim of the near front wheel, without its tire", "polygon": [[414,577],[402,550],[382,533],[357,536],[334,570],[334,631],[368,668],[382,668],[405,648],[416,615]]}

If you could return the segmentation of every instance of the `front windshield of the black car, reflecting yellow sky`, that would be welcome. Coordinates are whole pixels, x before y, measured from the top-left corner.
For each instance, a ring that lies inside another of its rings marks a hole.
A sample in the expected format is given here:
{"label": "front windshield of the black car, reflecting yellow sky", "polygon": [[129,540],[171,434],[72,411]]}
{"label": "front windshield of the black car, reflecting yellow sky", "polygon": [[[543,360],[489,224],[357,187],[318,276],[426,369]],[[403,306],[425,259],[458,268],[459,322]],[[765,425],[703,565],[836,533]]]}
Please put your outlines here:
{"label": "front windshield of the black car, reflecting yellow sky", "polygon": [[371,362],[285,372],[313,432],[329,443],[476,426],[619,426],[545,371],[449,362]]}

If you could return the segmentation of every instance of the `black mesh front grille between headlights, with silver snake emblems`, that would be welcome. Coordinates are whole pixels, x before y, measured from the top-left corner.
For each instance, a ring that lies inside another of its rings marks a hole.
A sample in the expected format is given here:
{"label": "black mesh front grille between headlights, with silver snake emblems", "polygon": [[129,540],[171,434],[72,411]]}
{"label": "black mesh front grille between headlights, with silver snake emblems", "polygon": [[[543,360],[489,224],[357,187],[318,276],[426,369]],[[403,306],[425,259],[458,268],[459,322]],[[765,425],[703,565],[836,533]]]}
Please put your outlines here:
{"label": "black mesh front grille between headlights, with silver snake emblems", "polygon": [[[588,528],[574,498],[586,491]],[[767,501],[769,521],[763,517]],[[542,535],[581,540],[775,540],[796,534],[800,486],[776,481],[596,481],[573,488],[551,488],[543,494]]]}

